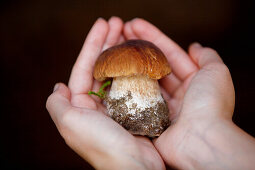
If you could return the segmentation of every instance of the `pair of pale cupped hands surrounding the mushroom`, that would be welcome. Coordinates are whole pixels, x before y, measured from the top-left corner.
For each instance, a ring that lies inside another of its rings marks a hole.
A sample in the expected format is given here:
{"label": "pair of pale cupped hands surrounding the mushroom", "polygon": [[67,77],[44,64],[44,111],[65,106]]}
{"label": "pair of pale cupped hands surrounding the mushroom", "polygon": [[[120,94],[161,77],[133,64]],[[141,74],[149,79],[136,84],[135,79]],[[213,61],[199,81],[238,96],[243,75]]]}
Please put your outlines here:
{"label": "pair of pale cupped hands surrounding the mushroom", "polygon": [[[160,85],[173,124],[152,141],[130,134],[88,95],[100,87],[92,75],[99,54],[126,39],[153,42],[172,67]],[[56,84],[46,105],[67,145],[96,169],[253,169],[255,139],[232,122],[234,102],[231,75],[215,50],[193,43],[185,52],[143,19],[112,17],[95,22],[68,87]]]}

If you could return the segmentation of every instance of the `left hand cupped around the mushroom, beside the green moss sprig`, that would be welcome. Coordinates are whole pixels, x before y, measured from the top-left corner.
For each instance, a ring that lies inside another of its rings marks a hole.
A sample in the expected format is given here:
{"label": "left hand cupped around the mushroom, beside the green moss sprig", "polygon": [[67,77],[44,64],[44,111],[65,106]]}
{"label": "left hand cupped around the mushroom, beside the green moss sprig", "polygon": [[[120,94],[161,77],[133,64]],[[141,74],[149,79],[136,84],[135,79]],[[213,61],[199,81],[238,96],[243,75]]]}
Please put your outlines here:
{"label": "left hand cupped around the mushroom, beside the green moss sprig", "polygon": [[124,41],[122,30],[117,17],[108,23],[96,21],[73,67],[69,88],[57,84],[47,109],[67,145],[96,169],[165,169],[148,138],[131,135],[106,115],[98,98],[88,95],[100,87],[92,76],[97,57]]}

